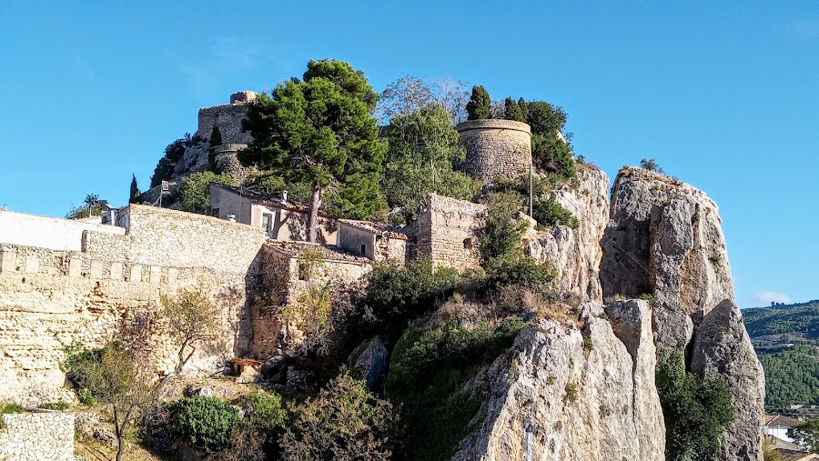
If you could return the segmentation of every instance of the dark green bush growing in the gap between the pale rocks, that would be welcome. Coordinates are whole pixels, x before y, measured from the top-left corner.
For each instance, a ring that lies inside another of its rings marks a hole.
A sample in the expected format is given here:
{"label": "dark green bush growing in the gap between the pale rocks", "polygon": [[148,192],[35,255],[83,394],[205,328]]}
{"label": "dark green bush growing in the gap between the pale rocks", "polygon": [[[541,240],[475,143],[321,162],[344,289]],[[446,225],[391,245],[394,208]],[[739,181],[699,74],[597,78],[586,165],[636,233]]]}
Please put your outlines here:
{"label": "dark green bush growing in the gap between the pale rocks", "polygon": [[666,459],[716,459],[720,437],[734,417],[728,384],[686,372],[682,354],[672,349],[657,357],[656,381],[665,419]]}

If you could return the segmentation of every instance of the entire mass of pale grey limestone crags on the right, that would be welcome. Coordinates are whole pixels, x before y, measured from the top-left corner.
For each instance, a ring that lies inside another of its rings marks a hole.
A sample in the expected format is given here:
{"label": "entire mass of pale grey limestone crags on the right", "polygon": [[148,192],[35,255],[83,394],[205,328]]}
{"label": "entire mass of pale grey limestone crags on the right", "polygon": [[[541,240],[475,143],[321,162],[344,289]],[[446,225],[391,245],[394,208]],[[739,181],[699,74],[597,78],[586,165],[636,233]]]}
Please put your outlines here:
{"label": "entire mass of pale grey limestone crags on the right", "polygon": [[[487,373],[481,424],[455,459],[664,459],[654,374],[675,350],[686,370],[730,388],[719,458],[761,461],[763,370],[733,303],[717,206],[691,185],[623,168],[609,208],[605,175],[579,176],[555,196],[582,225],[541,233],[530,253],[556,266],[563,293],[612,304],[524,328]],[[636,297],[648,301],[614,302]]]}

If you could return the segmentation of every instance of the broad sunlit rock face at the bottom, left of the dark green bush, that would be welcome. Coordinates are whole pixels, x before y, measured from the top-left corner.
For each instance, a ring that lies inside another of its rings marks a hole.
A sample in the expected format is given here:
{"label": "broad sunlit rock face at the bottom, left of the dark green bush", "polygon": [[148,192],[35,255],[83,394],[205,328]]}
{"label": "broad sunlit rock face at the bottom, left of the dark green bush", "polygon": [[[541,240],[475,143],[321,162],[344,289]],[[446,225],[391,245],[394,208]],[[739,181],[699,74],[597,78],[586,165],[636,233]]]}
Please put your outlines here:
{"label": "broad sunlit rock face at the bottom, left of the dark green bush", "polygon": [[583,308],[582,332],[571,322],[541,320],[521,331],[511,355],[495,361],[482,424],[453,459],[663,459],[647,306],[618,308],[629,347],[615,334],[616,322],[612,329],[593,315],[601,305]]}

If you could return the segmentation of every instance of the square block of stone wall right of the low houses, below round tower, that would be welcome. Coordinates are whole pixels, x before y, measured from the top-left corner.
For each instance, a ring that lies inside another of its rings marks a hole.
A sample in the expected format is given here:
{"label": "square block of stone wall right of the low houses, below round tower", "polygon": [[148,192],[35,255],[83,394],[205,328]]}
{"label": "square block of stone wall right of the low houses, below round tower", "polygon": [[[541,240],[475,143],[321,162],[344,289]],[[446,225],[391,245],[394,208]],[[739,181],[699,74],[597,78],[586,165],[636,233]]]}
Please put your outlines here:
{"label": "square block of stone wall right of the low houses, below round tower", "polygon": [[430,194],[415,224],[418,251],[435,266],[468,270],[480,266],[480,229],[486,205]]}

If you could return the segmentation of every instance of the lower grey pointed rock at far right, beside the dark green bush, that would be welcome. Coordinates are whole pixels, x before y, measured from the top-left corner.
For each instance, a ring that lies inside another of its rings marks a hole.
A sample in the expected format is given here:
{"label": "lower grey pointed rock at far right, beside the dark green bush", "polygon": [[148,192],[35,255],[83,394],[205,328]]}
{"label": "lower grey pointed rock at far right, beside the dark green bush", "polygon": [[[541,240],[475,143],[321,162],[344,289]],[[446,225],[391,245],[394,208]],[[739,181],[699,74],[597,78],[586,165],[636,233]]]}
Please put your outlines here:
{"label": "lower grey pointed rock at far right, beside the dark green bush", "polygon": [[695,374],[720,377],[731,387],[736,416],[723,436],[720,459],[761,461],[765,377],[743,315],[732,301],[714,307],[697,327],[691,367]]}

